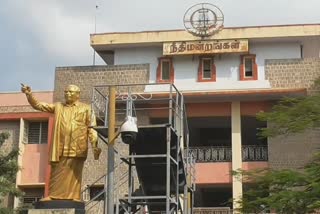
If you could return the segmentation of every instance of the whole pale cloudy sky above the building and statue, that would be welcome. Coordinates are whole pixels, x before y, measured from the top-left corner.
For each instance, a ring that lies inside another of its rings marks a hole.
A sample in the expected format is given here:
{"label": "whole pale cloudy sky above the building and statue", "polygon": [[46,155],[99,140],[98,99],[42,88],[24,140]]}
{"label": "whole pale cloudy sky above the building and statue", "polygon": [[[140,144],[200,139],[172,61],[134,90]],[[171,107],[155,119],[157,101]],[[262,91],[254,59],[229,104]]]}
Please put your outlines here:
{"label": "whole pale cloudy sky above the building and statue", "polygon": [[223,11],[225,27],[320,23],[320,0],[0,1],[0,92],[20,82],[53,90],[55,67],[91,65],[95,16],[97,33],[183,29],[185,11],[205,2]]}

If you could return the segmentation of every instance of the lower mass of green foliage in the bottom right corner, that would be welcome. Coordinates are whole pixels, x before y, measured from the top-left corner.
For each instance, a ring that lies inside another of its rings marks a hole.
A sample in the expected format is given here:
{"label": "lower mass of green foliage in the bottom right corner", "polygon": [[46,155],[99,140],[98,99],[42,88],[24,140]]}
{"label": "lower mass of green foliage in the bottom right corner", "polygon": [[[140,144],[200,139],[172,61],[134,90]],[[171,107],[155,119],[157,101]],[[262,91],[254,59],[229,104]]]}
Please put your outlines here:
{"label": "lower mass of green foliage in the bottom right corner", "polygon": [[320,154],[300,171],[263,169],[241,173],[249,179],[241,213],[313,213],[320,209]]}

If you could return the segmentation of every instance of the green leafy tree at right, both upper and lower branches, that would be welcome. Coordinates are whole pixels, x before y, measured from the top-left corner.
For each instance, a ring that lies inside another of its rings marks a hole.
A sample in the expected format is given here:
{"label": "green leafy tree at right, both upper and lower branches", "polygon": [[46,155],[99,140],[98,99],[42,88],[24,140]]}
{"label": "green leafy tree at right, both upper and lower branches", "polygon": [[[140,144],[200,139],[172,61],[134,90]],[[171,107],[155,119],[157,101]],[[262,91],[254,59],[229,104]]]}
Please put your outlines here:
{"label": "green leafy tree at right, both upper and lower branches", "polygon": [[[320,88],[320,79],[314,89]],[[301,98],[285,98],[270,112],[257,118],[271,124],[261,129],[262,137],[303,133],[320,128],[320,93]],[[303,142],[302,142],[303,143]],[[320,209],[320,153],[303,169],[241,171],[251,188],[244,191],[242,213],[312,213]]]}

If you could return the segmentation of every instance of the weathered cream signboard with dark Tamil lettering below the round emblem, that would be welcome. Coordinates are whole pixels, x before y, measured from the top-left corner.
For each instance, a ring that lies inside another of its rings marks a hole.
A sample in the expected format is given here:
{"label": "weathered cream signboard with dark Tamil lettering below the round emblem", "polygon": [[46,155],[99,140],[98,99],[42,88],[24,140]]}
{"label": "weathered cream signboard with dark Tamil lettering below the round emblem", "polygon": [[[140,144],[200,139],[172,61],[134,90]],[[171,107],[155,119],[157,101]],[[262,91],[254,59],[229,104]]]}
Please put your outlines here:
{"label": "weathered cream signboard with dark Tamil lettering below the round emblem", "polygon": [[248,50],[248,40],[245,39],[163,43],[163,55],[244,53]]}

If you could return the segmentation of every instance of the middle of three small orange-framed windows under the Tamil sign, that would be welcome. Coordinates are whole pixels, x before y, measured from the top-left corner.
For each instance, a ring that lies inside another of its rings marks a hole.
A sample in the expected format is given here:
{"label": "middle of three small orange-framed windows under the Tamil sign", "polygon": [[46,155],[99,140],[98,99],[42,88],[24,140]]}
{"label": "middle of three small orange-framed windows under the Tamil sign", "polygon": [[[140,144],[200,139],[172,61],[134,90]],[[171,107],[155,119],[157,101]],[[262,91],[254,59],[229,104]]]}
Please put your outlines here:
{"label": "middle of three small orange-framed windows under the Tamil sign", "polygon": [[216,81],[216,66],[213,58],[200,57],[198,68],[198,82]]}

